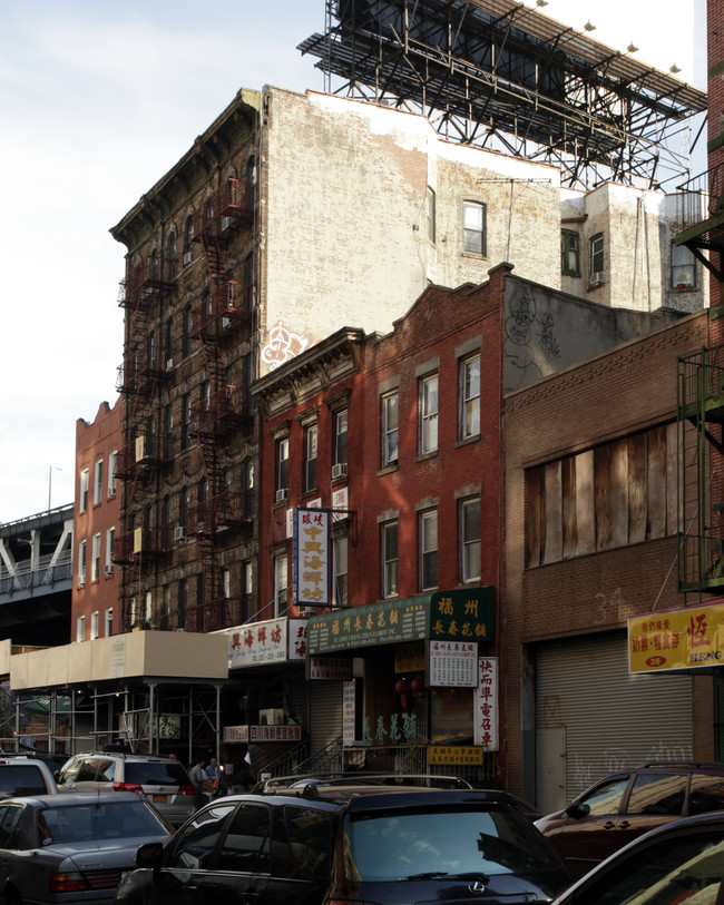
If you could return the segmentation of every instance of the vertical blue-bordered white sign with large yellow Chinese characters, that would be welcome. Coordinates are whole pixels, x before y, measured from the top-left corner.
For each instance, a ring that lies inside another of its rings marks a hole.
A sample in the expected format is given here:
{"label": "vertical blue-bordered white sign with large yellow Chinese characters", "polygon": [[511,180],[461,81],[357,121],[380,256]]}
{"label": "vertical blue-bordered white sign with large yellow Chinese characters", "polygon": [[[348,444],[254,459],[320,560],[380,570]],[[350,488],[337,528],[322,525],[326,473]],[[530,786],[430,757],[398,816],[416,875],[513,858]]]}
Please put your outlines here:
{"label": "vertical blue-bordered white sign with large yellow Chinese characters", "polygon": [[300,607],[329,607],[330,513],[294,510],[294,602]]}

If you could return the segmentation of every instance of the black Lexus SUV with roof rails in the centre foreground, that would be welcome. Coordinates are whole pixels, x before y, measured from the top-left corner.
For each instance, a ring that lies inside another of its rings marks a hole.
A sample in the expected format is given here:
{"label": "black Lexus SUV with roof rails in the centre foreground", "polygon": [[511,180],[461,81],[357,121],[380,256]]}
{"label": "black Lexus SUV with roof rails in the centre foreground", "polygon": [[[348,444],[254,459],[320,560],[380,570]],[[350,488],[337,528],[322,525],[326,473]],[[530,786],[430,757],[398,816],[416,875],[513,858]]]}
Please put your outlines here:
{"label": "black Lexus SUV with roof rails in the centre foreground", "polygon": [[569,883],[502,791],[380,785],[234,795],[138,849],[118,905],[550,903]]}

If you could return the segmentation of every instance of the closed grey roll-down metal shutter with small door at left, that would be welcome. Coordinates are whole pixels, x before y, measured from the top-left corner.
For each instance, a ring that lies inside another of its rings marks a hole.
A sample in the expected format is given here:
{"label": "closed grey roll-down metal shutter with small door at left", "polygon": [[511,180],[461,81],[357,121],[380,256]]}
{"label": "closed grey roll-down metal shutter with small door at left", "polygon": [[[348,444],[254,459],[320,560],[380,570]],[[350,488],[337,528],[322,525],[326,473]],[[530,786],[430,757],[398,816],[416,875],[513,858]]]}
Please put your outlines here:
{"label": "closed grey roll-down metal shutter with small door at left", "polygon": [[[625,632],[560,640],[536,656],[537,800],[555,810],[603,776],[692,759],[692,677],[629,673]],[[551,807],[552,805],[552,807]]]}

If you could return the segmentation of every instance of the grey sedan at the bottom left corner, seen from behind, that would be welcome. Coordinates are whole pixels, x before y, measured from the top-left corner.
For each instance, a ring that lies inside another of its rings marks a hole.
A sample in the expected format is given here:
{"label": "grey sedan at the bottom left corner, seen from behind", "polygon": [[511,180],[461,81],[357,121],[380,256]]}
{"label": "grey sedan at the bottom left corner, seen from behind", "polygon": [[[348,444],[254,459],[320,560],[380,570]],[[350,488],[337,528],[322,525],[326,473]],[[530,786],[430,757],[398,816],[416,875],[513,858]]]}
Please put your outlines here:
{"label": "grey sedan at the bottom left corner, seen from behind", "polygon": [[4,905],[112,899],[133,870],[139,839],[172,832],[138,795],[41,795],[0,801],[0,894]]}

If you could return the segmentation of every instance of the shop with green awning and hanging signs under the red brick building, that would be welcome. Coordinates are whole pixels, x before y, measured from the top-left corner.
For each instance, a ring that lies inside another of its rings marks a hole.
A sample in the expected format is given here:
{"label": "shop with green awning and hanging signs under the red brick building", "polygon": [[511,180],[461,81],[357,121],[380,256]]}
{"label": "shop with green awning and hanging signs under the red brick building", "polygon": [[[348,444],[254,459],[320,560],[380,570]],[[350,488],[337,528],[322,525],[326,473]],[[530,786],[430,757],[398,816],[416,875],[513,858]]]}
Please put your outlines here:
{"label": "shop with green awning and hanging signs under the red brick building", "polygon": [[334,663],[343,768],[493,777],[499,748],[493,608],[493,589],[485,587],[310,618],[312,709],[317,696],[329,696],[315,677]]}

